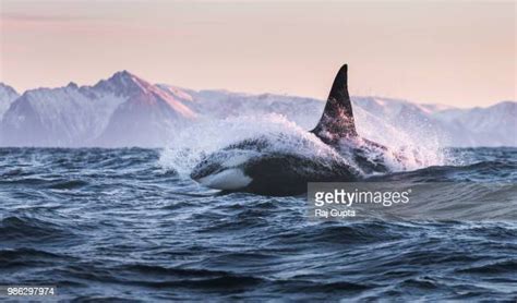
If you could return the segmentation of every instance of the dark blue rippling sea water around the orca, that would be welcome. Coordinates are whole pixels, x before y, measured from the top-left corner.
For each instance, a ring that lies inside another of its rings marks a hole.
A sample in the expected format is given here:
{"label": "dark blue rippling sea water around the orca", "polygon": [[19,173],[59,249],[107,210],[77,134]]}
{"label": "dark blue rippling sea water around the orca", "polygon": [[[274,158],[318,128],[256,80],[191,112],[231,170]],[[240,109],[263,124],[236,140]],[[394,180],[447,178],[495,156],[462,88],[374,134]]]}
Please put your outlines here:
{"label": "dark blue rippling sea water around the orca", "polygon": [[[517,182],[516,148],[450,155],[464,165],[383,178]],[[0,156],[0,284],[63,300],[517,299],[515,191],[491,193],[490,220],[315,221],[304,196],[205,190],[160,150]]]}

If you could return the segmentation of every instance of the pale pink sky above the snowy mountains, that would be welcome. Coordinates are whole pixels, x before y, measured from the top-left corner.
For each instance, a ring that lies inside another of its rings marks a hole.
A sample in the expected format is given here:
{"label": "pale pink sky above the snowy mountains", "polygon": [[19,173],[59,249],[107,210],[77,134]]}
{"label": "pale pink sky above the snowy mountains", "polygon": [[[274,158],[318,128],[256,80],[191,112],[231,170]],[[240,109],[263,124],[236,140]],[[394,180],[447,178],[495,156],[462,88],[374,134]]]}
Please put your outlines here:
{"label": "pale pink sky above the snowy mountains", "polygon": [[0,0],[0,82],[20,92],[151,82],[458,107],[516,99],[516,3]]}

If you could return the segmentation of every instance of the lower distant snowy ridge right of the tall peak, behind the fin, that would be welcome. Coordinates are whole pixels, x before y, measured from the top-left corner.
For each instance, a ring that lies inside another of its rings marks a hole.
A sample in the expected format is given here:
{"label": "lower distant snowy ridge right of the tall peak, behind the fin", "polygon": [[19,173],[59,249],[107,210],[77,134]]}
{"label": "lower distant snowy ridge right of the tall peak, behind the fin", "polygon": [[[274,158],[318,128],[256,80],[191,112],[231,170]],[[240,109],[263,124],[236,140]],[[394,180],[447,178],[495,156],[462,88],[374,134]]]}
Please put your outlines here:
{"label": "lower distant snowy ridge right of the tall peak, behind the fin", "polygon": [[[314,128],[325,105],[323,100],[294,96],[175,89],[202,117],[224,119],[279,113],[306,130]],[[441,146],[517,146],[516,101],[504,101],[488,108],[459,109],[354,96],[352,104],[359,133],[386,145],[404,146],[409,142],[433,141]]]}

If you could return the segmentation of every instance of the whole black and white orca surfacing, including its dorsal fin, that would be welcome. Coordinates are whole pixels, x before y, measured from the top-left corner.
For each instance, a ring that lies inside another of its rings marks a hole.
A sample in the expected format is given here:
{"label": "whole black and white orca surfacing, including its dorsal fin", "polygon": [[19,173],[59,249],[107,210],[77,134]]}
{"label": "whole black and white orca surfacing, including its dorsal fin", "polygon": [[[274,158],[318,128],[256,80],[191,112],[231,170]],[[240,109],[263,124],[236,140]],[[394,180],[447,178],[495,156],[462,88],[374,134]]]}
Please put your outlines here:
{"label": "whole black and white orca surfacing, including its dorsal fin", "polygon": [[[306,191],[308,182],[357,181],[387,172],[385,156],[397,159],[397,155],[358,135],[347,70],[345,64],[337,73],[317,125],[308,136],[296,138],[300,148],[278,148],[282,141],[293,140],[282,134],[247,138],[204,157],[191,178],[218,190],[296,195]],[[304,148],[316,152],[301,153]]]}

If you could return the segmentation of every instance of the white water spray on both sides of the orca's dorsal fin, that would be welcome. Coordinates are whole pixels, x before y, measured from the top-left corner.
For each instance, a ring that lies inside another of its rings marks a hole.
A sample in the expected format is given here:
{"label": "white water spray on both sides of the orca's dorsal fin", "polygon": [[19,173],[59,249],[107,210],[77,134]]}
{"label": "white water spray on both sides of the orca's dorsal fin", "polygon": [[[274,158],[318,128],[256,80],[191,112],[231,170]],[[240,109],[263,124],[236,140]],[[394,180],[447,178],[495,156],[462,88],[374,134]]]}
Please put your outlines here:
{"label": "white water spray on both sides of the orca's dorsal fin", "polygon": [[[401,130],[361,109],[357,110],[357,121],[361,135],[380,142],[392,150],[385,153],[383,158],[393,171],[414,170],[447,162],[438,134],[425,128],[423,123],[416,121],[414,128]],[[169,147],[161,153],[160,163],[187,177],[206,155],[258,136],[273,143],[268,152],[297,154],[309,158],[341,158],[334,148],[323,144],[314,134],[289,121],[285,116],[269,113],[201,120],[175,136]],[[404,160],[400,161],[400,158]],[[350,165],[357,168],[356,165]]]}

